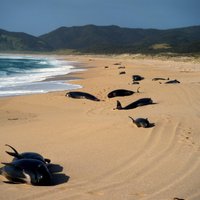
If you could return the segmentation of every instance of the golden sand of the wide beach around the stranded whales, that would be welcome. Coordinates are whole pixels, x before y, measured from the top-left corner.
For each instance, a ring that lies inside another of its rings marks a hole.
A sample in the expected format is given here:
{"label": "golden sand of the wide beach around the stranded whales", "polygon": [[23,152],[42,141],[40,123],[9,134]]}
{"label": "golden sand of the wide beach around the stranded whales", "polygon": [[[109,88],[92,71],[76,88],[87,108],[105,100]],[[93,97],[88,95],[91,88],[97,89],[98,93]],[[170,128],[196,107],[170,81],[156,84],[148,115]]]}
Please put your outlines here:
{"label": "golden sand of the wide beach around the stranded whales", "polygon": [[[0,199],[199,200],[200,65],[131,56],[66,59],[89,67],[73,82],[102,101],[67,98],[66,91],[0,99],[0,161],[11,159],[8,143],[63,167],[55,186],[6,184],[1,176]],[[118,69],[119,62],[126,68]],[[139,94],[106,97],[114,89],[136,91],[133,74],[145,77]],[[181,83],[159,84],[155,77]],[[127,105],[142,97],[157,104],[113,110],[116,100]],[[128,116],[148,117],[155,126],[137,128]]]}

